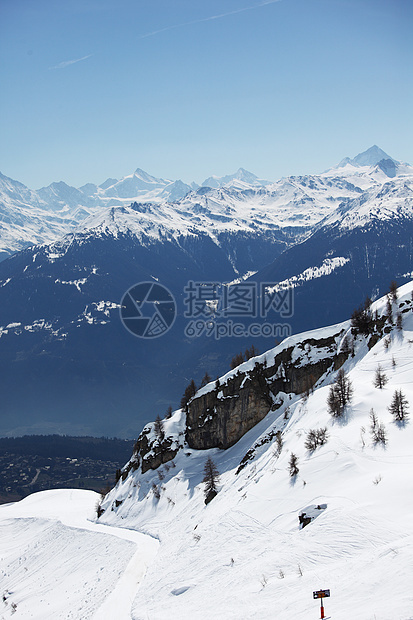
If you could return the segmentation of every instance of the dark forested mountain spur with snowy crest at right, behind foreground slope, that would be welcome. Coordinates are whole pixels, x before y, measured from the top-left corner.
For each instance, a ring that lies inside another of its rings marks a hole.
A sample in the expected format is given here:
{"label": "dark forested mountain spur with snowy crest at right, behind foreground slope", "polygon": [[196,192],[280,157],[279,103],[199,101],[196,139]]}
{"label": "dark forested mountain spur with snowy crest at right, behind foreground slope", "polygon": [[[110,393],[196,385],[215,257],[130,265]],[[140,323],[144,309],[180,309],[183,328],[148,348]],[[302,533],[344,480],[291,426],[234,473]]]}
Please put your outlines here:
{"label": "dark forested mountain spur with snowy crest at right, behind foreground slope", "polygon": [[[382,294],[388,283],[410,279],[413,263],[413,185],[388,180],[340,207],[311,235],[251,276],[294,289],[293,331],[306,324],[344,320],[361,301]],[[306,322],[306,323],[305,323]]]}

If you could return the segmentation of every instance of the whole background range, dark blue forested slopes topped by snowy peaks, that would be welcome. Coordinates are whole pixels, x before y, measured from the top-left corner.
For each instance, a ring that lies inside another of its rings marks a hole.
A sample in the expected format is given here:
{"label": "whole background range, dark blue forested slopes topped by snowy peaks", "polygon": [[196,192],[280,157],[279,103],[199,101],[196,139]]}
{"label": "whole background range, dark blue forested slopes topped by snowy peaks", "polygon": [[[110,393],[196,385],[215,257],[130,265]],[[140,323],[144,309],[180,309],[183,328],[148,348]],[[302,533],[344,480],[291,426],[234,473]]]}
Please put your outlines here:
{"label": "whole background range, dark blue forested slopes topped by snowy peaks", "polygon": [[[111,207],[79,206],[80,190],[63,206],[47,206],[46,194],[3,179],[1,225],[9,236],[2,238],[13,255],[0,262],[0,376],[8,412],[0,433],[133,437],[155,406],[179,402],[182,377],[199,382],[206,370],[224,372],[237,350],[251,346],[256,317],[243,319],[237,339],[216,341],[202,330],[188,337],[189,281],[249,277],[257,290],[263,282],[293,290],[294,311],[283,322],[288,333],[343,320],[392,279],[408,281],[413,175],[397,164],[396,176],[387,176],[377,162],[382,152],[369,151],[360,156],[363,165],[354,160],[321,175],[265,186],[231,179],[175,202],[122,199]],[[147,185],[153,179],[139,178]],[[102,191],[116,183],[104,185]],[[17,239],[42,243],[16,252]],[[133,338],[119,315],[124,293],[147,281],[167,286],[177,303],[174,327],[156,345]],[[219,315],[213,321],[218,325]],[[268,337],[254,343],[268,348]]]}

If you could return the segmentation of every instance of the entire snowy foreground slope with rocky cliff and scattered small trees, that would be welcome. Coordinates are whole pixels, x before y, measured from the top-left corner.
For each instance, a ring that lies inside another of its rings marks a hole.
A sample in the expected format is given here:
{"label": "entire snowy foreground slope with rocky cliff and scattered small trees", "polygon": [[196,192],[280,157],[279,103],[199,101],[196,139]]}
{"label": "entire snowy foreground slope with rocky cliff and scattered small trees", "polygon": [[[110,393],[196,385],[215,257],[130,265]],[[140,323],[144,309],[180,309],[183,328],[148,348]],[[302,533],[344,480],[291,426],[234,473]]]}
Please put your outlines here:
{"label": "entire snowy foreground slope with rocky cliff and scattered small trees", "polygon": [[[0,507],[3,617],[308,620],[328,589],[326,617],[411,620],[413,283],[368,316],[288,338],[148,424],[103,499]],[[332,415],[343,371],[352,396]]]}

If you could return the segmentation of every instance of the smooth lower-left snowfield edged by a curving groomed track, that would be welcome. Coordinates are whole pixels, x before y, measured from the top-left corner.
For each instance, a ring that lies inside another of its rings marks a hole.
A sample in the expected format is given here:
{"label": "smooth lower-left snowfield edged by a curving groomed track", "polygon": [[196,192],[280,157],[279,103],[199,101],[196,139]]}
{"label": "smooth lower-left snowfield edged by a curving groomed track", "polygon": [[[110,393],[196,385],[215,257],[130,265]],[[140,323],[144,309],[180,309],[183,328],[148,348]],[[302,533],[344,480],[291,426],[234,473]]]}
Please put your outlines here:
{"label": "smooth lower-left snowfield edged by a curving groomed track", "polygon": [[89,520],[98,498],[93,491],[44,491],[0,507],[2,620],[131,618],[159,543]]}

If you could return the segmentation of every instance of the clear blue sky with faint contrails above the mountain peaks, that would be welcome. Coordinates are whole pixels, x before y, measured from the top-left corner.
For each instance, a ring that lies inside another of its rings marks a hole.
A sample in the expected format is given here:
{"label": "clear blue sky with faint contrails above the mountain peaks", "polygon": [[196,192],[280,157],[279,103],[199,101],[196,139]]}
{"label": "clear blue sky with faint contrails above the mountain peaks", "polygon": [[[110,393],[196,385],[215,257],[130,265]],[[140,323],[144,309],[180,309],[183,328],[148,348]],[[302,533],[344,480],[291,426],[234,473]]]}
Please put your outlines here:
{"label": "clear blue sky with faint contrails above the mountain peaks", "polygon": [[410,0],[1,0],[0,171],[203,181],[413,163]]}

